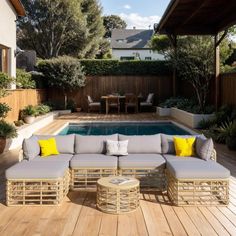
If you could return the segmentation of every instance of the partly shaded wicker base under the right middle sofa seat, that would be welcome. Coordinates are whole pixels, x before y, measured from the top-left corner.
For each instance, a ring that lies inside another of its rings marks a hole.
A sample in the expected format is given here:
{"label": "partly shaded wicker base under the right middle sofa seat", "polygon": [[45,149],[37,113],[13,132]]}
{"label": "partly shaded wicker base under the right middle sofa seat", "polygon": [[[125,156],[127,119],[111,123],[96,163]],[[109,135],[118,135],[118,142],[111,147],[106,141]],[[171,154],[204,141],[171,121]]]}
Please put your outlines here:
{"label": "partly shaded wicker base under the right middle sofa seat", "polygon": [[165,168],[156,169],[120,169],[119,175],[136,178],[140,181],[140,188],[152,190],[166,190]]}

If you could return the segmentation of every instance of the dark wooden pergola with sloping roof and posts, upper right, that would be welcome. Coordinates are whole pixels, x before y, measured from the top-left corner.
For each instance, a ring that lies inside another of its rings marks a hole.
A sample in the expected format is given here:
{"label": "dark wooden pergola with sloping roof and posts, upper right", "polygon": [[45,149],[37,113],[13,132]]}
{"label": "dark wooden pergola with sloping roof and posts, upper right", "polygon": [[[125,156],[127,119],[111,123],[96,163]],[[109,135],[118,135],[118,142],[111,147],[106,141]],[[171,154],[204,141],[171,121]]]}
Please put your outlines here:
{"label": "dark wooden pergola with sloping roof and posts, upper right", "polygon": [[[177,35],[212,35],[215,46],[215,105],[219,105],[219,45],[230,26],[236,24],[236,0],[171,0],[156,32],[167,34],[174,48]],[[224,33],[219,37],[219,32]],[[176,75],[173,73],[176,94]]]}

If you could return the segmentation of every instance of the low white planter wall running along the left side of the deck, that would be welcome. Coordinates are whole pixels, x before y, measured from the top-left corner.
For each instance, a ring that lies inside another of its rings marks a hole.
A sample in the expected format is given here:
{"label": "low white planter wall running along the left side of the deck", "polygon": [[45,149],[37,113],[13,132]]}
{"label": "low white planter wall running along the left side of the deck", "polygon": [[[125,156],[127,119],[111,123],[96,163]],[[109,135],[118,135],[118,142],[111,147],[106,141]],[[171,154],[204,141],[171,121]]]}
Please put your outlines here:
{"label": "low white planter wall running along the left side of the deck", "polygon": [[20,147],[25,138],[29,138],[33,133],[53,122],[55,117],[69,113],[71,113],[70,110],[53,111],[46,115],[37,117],[32,124],[25,124],[17,128],[18,137],[14,139],[8,139],[4,151]]}

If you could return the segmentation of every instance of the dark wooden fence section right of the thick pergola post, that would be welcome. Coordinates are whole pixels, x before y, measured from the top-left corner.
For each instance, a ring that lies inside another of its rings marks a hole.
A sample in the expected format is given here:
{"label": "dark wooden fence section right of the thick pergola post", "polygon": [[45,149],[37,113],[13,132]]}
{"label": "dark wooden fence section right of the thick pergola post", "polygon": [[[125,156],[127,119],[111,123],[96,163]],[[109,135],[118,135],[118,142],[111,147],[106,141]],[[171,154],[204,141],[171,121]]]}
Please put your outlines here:
{"label": "dark wooden fence section right of the thick pergola post", "polygon": [[220,88],[221,104],[236,106],[236,73],[222,74]]}

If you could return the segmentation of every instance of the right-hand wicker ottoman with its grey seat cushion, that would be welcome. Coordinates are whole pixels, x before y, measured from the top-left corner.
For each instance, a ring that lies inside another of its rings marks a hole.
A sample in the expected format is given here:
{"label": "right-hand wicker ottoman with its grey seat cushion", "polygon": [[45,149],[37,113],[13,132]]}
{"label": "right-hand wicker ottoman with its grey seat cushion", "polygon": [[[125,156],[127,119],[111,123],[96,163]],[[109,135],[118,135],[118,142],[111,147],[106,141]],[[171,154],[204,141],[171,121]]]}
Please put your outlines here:
{"label": "right-hand wicker ottoman with its grey seat cushion", "polygon": [[215,161],[167,160],[167,191],[178,206],[227,205],[229,177],[229,170]]}

